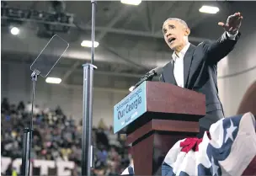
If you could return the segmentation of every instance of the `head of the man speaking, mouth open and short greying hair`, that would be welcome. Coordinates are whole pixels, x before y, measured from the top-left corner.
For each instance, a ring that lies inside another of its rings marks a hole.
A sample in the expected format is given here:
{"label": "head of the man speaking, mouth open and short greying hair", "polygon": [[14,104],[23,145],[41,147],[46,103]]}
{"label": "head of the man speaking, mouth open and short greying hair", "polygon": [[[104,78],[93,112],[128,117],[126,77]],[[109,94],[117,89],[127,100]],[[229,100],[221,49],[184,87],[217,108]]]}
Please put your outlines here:
{"label": "head of the man speaking, mouth open and short greying hair", "polygon": [[167,20],[163,24],[163,36],[168,46],[176,51],[186,44],[184,36],[188,35],[188,29],[177,20]]}

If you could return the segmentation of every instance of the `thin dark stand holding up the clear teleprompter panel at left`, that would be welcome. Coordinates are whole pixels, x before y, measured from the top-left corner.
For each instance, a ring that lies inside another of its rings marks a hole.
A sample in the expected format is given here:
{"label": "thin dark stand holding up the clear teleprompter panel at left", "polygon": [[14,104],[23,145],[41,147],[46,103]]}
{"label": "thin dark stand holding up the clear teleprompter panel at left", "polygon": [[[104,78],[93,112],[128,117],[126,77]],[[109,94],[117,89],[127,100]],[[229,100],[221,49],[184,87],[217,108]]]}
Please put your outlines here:
{"label": "thin dark stand holding up the clear teleprompter panel at left", "polygon": [[37,81],[37,77],[40,75],[38,70],[35,70],[31,74],[31,80],[33,83],[32,88],[32,111],[31,111],[31,119],[29,128],[24,128],[24,136],[23,136],[23,151],[22,151],[22,166],[21,166],[21,175],[29,176],[30,171],[30,151],[32,147],[32,132],[33,132],[33,116],[34,116],[34,101],[35,101],[35,82]]}

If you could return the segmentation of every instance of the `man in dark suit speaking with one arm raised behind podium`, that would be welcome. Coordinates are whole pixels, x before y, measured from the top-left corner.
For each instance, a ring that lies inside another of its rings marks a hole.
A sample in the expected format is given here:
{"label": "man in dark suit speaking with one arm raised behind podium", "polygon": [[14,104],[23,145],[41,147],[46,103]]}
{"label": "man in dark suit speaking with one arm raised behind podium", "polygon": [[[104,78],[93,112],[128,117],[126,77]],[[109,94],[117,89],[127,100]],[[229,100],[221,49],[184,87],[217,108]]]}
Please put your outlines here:
{"label": "man in dark suit speaking with one arm raised behind podium", "polygon": [[160,81],[205,94],[206,115],[200,119],[199,137],[211,124],[224,118],[218,96],[217,63],[236,45],[242,19],[241,13],[234,13],[227,18],[226,24],[219,23],[225,29],[219,40],[204,41],[197,46],[189,43],[190,30],[182,19],[170,18],[163,23],[164,40],[173,55],[163,67]]}

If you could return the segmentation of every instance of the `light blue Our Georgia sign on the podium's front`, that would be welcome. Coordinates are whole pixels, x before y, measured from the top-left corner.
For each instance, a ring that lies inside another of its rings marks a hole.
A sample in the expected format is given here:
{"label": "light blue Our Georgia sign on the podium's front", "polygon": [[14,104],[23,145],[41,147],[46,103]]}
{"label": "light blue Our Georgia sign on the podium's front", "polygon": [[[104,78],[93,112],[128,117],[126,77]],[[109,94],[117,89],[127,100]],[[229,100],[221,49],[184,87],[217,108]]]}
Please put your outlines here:
{"label": "light blue Our Georgia sign on the podium's front", "polygon": [[131,124],[147,111],[146,82],[114,106],[114,133]]}

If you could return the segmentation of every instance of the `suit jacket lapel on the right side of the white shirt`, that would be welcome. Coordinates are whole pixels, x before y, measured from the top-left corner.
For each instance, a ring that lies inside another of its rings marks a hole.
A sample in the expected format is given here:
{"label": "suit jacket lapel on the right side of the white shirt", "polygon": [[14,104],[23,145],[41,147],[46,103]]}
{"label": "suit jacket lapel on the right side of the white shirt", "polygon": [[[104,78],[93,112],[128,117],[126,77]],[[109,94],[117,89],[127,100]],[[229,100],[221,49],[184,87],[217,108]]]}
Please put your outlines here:
{"label": "suit jacket lapel on the right side of the white shirt", "polygon": [[190,71],[194,51],[195,51],[195,45],[190,44],[189,49],[184,56],[184,88],[188,87],[189,71]]}

